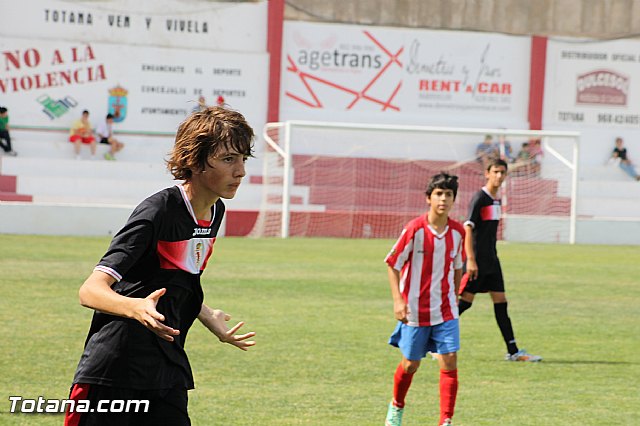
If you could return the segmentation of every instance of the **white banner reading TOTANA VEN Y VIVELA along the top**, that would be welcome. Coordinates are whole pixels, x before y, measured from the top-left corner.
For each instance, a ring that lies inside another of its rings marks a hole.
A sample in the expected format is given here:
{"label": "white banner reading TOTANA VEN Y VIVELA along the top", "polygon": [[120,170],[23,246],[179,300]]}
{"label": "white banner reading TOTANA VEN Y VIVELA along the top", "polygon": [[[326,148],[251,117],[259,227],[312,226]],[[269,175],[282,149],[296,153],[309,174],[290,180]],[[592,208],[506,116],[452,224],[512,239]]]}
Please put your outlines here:
{"label": "white banner reading TOTANA VEN Y VIVELA along the top", "polygon": [[4,37],[263,52],[267,1],[0,0]]}

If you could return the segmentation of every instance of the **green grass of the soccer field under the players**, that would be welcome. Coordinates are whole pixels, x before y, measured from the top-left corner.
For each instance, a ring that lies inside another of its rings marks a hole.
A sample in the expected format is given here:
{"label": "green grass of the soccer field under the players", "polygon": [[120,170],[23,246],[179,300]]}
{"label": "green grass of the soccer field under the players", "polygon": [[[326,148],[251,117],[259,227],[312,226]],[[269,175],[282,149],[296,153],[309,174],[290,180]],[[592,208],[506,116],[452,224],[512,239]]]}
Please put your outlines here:
{"label": "green grass of the soccer field under the players", "polygon": [[[106,238],[0,235],[0,424],[10,395],[66,398],[91,312],[77,290]],[[222,238],[205,300],[257,332],[249,352],[196,323],[195,425],[381,425],[399,352],[386,267],[390,240]],[[461,318],[455,424],[640,424],[640,248],[500,244],[509,312],[538,364],[503,361],[488,296]],[[437,424],[438,368],[425,360],[405,425]]]}

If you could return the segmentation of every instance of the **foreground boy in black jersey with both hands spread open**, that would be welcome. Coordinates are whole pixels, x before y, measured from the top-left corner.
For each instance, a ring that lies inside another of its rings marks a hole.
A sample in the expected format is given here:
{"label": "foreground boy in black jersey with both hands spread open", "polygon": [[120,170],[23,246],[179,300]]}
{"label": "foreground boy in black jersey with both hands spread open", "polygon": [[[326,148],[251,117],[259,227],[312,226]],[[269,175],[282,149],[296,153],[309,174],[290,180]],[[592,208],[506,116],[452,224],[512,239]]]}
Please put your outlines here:
{"label": "foreground boy in black jersey with both hands spread open", "polygon": [[[91,401],[93,412],[69,410],[65,425],[189,425],[194,383],[184,344],[196,318],[222,342],[255,344],[255,333],[236,334],[242,322],[229,329],[230,317],[204,304],[200,284],[221,199],[235,196],[252,140],[244,117],[223,107],[180,125],[168,168],[184,183],[136,207],[80,288],[80,303],[95,312],[70,398]],[[146,400],[148,412],[98,412],[101,400]]]}

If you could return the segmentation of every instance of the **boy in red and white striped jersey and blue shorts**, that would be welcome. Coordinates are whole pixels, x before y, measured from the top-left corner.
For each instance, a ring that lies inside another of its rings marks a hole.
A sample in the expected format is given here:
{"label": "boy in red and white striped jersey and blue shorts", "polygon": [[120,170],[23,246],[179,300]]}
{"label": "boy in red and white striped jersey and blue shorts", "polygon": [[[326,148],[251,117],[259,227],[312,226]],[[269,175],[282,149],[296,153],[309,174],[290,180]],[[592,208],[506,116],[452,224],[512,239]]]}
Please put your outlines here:
{"label": "boy in red and white striped jersey and blue shorts", "polygon": [[456,352],[460,349],[460,331],[456,295],[464,245],[464,228],[449,219],[457,192],[456,176],[433,176],[426,190],[429,211],[405,225],[385,258],[398,320],[389,344],[402,352],[394,375],[387,426],[402,423],[405,396],[427,352],[439,354],[438,424],[451,425],[458,391]]}

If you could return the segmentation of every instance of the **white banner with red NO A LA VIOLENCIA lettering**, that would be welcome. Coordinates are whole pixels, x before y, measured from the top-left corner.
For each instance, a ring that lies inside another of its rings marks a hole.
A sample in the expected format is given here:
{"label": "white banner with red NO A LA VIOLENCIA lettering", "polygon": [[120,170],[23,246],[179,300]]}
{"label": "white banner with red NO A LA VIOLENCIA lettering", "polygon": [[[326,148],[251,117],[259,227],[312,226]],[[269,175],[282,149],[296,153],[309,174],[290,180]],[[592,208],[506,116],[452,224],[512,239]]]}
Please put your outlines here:
{"label": "white banner with red NO A LA VIOLENCIA lettering", "polygon": [[89,110],[118,131],[175,132],[196,106],[226,103],[261,128],[266,53],[2,38],[0,98],[14,126],[68,127]]}

